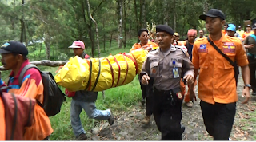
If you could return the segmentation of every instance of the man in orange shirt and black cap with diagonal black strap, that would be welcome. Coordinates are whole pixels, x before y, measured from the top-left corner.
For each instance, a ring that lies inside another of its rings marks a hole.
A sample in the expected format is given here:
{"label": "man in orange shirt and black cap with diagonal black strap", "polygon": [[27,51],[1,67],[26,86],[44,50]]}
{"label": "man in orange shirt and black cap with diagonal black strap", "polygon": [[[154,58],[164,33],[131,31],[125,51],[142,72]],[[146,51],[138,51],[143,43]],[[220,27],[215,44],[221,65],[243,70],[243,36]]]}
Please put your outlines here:
{"label": "man in orange shirt and black cap with diagonal black strap", "polygon": [[[242,95],[246,97],[242,103],[247,103],[250,100],[250,69],[242,42],[237,37],[222,34],[225,16],[221,10],[211,9],[199,18],[206,21],[209,40],[213,41],[230,60],[236,61],[241,66],[245,83]],[[234,66],[214,49],[210,41],[207,38],[200,38],[194,43],[192,51],[194,78],[197,77],[200,69],[198,97],[201,99],[200,106],[207,132],[214,136],[214,140],[229,140],[236,112],[236,101],[238,101]],[[194,98],[195,94],[191,89],[191,101]]]}

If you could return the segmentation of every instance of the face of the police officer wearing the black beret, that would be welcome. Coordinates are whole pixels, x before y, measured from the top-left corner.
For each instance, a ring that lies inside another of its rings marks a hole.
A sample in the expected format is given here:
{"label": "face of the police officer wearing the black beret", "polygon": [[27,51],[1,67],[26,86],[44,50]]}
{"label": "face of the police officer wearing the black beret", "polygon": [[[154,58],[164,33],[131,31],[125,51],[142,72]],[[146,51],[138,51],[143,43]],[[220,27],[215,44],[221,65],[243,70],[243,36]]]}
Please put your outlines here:
{"label": "face of the police officer wearing the black beret", "polygon": [[158,32],[156,35],[156,40],[161,49],[168,49],[174,40],[173,35],[167,34],[166,32]]}

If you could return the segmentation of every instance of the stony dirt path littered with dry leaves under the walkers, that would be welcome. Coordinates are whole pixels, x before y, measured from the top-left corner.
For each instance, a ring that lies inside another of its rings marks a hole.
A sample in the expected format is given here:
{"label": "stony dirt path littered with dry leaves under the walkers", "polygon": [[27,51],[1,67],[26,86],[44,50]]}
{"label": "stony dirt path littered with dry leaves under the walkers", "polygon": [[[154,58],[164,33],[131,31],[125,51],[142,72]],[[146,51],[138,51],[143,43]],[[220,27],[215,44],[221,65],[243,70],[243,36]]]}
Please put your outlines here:
{"label": "stony dirt path littered with dry leaves under the walkers", "polygon": [[[256,116],[255,102],[256,97],[252,97],[250,104],[242,105],[241,97],[243,89],[242,77],[239,77],[237,113],[230,139],[232,140],[256,140]],[[198,93],[198,89],[195,90]],[[198,99],[199,100],[199,99]],[[141,124],[145,115],[145,108],[138,105],[129,108],[126,112],[115,112],[115,122],[112,126],[108,123],[101,124],[98,128],[93,128],[90,134],[91,140],[161,140],[161,133],[154,123],[151,116],[149,125]],[[182,105],[182,125],[186,127],[182,134],[182,140],[213,140],[206,132],[203,124],[202,113],[199,101],[195,102],[193,108]]]}

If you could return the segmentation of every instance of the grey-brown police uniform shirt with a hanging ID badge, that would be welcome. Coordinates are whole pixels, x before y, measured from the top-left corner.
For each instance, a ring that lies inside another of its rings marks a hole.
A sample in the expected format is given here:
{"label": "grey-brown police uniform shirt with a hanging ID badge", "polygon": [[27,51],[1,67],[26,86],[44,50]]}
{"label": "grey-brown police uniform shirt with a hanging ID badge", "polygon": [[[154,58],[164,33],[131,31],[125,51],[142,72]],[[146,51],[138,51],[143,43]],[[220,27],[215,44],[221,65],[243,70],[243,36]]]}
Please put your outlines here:
{"label": "grey-brown police uniform shirt with a hanging ID badge", "polygon": [[[171,45],[166,52],[162,52],[160,48],[151,51],[142,65],[142,73],[154,77],[156,89],[170,90],[180,86],[182,65],[186,65],[184,76],[188,74],[194,76],[194,66],[190,59],[186,58],[182,49],[176,49]],[[174,77],[174,68],[178,68],[178,77]]]}

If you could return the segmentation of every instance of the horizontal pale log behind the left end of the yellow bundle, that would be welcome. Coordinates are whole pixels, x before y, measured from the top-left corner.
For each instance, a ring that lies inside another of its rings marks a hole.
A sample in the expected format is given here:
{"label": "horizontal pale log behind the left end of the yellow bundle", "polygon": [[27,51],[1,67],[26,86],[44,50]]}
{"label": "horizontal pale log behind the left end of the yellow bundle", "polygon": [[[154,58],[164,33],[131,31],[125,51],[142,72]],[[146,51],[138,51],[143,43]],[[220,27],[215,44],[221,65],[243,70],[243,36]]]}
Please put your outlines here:
{"label": "horizontal pale log behind the left end of the yellow bundle", "polygon": [[[41,61],[31,61],[31,64],[34,65],[44,65],[50,67],[62,66],[65,65],[68,61],[50,61],[50,60],[41,60]],[[6,70],[3,66],[0,66],[0,70]]]}

